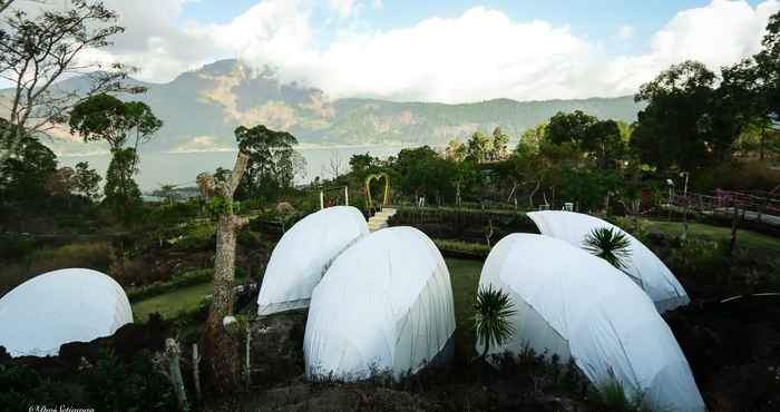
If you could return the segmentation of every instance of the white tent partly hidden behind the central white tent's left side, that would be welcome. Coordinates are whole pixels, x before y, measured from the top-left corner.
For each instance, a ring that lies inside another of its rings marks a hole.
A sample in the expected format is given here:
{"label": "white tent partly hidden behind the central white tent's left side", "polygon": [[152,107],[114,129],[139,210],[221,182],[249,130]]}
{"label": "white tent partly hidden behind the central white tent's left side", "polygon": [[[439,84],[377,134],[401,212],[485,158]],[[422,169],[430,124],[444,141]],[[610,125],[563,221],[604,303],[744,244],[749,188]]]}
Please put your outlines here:
{"label": "white tent partly hidden behind the central white tent's left side", "polygon": [[309,306],[314,286],[345,248],[369,233],[354,207],[335,206],[293,225],[271,253],[257,296],[257,314]]}

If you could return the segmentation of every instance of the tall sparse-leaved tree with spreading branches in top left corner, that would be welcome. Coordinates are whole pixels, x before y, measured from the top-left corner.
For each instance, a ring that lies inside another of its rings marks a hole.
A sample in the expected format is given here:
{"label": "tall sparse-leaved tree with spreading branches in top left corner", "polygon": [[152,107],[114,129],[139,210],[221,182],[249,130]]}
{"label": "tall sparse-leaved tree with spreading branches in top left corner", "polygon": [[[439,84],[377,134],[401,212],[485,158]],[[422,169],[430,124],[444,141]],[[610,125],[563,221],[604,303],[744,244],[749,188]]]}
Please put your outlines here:
{"label": "tall sparse-leaved tree with spreading branches in top left corner", "polygon": [[[13,85],[9,124],[0,136],[0,160],[12,156],[26,135],[36,136],[66,121],[70,109],[89,96],[106,91],[139,92],[125,84],[130,68],[85,63],[79,57],[110,45],[124,31],[117,14],[103,2],[71,0],[66,10],[46,10],[31,18],[4,1],[0,24],[0,77]],[[82,73],[87,75],[82,75]],[[82,75],[86,88],[52,85]]]}

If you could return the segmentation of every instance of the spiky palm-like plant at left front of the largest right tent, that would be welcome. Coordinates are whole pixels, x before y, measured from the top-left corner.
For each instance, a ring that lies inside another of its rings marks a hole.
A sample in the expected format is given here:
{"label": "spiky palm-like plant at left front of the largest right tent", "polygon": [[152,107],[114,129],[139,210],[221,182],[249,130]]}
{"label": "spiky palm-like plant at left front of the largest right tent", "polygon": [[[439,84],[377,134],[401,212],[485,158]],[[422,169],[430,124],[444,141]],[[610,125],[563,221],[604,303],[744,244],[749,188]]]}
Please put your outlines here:
{"label": "spiky palm-like plant at left front of the largest right tent", "polygon": [[494,290],[493,285],[477,293],[477,302],[474,304],[474,328],[477,332],[477,341],[485,345],[481,359],[487,356],[491,344],[501,345],[515,333],[509,323],[509,317],[516,313],[513,306],[509,295]]}

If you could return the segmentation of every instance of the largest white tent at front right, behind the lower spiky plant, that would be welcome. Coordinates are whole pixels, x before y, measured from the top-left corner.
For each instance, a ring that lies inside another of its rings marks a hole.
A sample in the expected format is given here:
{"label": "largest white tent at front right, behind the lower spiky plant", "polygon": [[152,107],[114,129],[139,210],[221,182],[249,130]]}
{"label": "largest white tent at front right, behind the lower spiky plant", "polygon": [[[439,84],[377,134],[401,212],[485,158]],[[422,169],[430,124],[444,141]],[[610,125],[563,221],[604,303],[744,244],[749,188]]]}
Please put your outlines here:
{"label": "largest white tent at front right, behind the lower spiky plant", "polygon": [[[509,294],[509,342],[575,364],[596,386],[611,381],[657,410],[704,411],[685,355],[646,294],[606,261],[566,242],[514,234],[490,252],[479,287]],[[478,345],[477,351],[484,347]]]}

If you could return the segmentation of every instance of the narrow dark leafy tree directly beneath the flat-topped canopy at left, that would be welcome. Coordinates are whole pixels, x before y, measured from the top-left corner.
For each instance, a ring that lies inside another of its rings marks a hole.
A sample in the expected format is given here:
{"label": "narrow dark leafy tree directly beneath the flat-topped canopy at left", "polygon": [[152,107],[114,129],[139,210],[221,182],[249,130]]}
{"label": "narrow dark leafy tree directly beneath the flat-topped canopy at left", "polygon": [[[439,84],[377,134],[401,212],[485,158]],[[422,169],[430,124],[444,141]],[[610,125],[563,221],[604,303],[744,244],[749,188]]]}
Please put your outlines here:
{"label": "narrow dark leafy tree directly beneath the flat-topped canopy at left", "polygon": [[110,205],[125,220],[133,217],[140,207],[140,189],[133,179],[137,171],[138,156],[131,147],[114,151],[106,171],[105,203]]}

